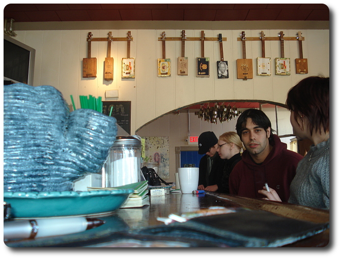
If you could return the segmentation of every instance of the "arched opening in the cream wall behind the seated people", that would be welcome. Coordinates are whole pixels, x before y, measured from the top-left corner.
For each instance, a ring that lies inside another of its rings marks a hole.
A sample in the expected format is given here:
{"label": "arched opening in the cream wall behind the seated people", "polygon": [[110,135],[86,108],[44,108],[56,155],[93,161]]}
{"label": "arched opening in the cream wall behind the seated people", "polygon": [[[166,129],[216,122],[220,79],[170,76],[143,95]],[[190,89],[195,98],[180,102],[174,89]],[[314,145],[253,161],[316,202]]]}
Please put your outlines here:
{"label": "arched opening in the cream wall behind the seated people", "polygon": [[[190,143],[190,137],[197,137],[205,131],[212,131],[217,137],[224,132],[235,131],[237,117],[222,123],[219,120],[216,123],[211,123],[205,121],[204,118],[198,118],[198,115],[195,114],[201,106],[213,107],[215,104],[225,104],[226,106],[230,104],[231,107],[235,106],[237,111],[241,112],[250,108],[263,110],[269,117],[272,128],[281,138],[281,141],[287,143],[288,149],[296,149],[295,151],[297,151],[290,123],[290,112],[285,104],[264,100],[209,100],[190,104],[151,120],[138,128],[135,133],[143,138],[163,137],[163,141],[167,142],[169,147],[168,172],[161,172],[161,175],[168,179],[167,181],[175,181],[177,168],[183,166],[181,152],[192,152],[193,156],[197,152],[197,143]],[[152,157],[153,155],[151,155]],[[194,159],[197,160],[198,158]],[[186,161],[186,164],[191,164],[190,160]]]}

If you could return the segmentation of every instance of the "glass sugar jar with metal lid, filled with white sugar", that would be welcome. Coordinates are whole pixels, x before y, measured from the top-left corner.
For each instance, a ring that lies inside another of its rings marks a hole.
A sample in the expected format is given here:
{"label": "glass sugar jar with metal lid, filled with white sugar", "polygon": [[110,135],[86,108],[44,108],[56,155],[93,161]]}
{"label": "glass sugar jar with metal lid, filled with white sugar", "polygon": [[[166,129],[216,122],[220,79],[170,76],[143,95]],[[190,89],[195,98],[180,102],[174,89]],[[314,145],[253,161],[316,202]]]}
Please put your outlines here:
{"label": "glass sugar jar with metal lid, filled with white sugar", "polygon": [[104,165],[105,187],[117,187],[141,181],[141,140],[118,136]]}

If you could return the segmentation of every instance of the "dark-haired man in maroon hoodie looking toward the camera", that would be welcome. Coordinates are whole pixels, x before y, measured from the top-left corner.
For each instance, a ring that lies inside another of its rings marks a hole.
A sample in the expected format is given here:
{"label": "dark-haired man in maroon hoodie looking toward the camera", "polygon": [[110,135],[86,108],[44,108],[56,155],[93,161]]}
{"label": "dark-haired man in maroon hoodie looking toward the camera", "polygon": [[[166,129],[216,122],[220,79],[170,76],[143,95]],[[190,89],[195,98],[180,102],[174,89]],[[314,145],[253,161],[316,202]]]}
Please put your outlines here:
{"label": "dark-haired man in maroon hoodie looking toward the camera", "polygon": [[258,190],[267,183],[283,202],[287,202],[290,183],[303,156],[288,150],[287,144],[272,133],[271,122],[261,110],[244,111],[238,117],[236,130],[246,150],[231,172],[230,193],[264,198]]}

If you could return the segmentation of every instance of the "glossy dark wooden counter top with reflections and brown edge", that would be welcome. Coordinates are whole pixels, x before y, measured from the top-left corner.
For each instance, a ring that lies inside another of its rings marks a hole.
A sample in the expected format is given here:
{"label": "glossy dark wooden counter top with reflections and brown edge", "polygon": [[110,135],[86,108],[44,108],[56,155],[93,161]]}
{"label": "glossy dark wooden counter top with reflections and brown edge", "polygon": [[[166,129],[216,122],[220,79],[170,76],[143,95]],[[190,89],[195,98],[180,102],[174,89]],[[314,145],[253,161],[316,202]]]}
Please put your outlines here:
{"label": "glossy dark wooden counter top with reflections and brown edge", "polygon": [[[168,217],[169,214],[181,215],[211,206],[248,208],[264,210],[288,218],[300,219],[314,223],[329,222],[329,211],[298,206],[288,203],[278,203],[259,199],[248,199],[232,195],[219,195],[207,192],[205,195],[182,195],[171,192],[165,196],[150,197],[150,205],[141,208],[119,209],[110,215],[97,218],[104,219],[105,224],[98,228],[81,233],[36,240],[21,240],[6,242],[10,247],[182,247],[182,246],[214,246],[201,242],[181,243],[179,239],[153,236],[138,236],[137,233],[151,226],[164,225],[157,217]],[[286,245],[286,247],[324,247],[329,242],[329,229]]]}

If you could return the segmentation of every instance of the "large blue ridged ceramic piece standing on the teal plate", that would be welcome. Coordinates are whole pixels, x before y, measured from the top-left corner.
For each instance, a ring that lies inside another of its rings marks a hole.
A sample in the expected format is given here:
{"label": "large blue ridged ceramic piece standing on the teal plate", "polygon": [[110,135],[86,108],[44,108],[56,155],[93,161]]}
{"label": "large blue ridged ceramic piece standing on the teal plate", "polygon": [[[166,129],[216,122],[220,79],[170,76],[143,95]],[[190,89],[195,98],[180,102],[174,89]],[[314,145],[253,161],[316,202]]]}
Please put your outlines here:
{"label": "large blue ridged ceramic piece standing on the teal plate", "polygon": [[100,112],[69,112],[52,86],[4,86],[4,192],[71,191],[102,169],[117,121]]}

